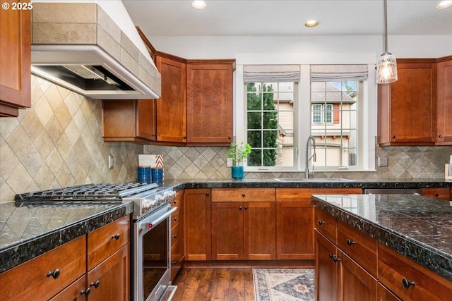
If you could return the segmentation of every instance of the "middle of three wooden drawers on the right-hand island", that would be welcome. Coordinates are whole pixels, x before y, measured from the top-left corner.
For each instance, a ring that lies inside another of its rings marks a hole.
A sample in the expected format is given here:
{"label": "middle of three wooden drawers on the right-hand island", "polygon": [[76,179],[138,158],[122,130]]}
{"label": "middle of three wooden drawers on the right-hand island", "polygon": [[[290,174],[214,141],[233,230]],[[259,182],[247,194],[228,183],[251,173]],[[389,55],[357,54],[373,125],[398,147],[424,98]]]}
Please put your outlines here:
{"label": "middle of three wooden drawers on the right-hand island", "polygon": [[377,244],[374,238],[338,221],[338,247],[376,277]]}

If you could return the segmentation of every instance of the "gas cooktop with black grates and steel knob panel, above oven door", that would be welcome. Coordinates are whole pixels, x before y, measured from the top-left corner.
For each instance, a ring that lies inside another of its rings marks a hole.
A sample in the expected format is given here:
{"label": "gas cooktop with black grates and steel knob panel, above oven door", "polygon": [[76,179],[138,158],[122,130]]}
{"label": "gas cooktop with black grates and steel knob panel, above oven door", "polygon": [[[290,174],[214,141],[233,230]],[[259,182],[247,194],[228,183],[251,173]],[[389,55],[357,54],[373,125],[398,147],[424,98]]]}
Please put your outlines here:
{"label": "gas cooktop with black grates and steel knob panel, above oven door", "polygon": [[156,183],[86,184],[16,195],[16,207],[133,202],[133,219],[170,204],[176,192]]}

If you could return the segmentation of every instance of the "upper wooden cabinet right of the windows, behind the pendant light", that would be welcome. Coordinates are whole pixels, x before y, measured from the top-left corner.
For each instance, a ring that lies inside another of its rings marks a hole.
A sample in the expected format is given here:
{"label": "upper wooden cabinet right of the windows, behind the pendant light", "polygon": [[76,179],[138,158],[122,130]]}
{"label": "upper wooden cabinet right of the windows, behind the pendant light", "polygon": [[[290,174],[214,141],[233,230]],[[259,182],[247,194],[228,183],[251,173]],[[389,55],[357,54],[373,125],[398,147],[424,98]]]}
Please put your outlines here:
{"label": "upper wooden cabinet right of the windows, behind the pendant light", "polygon": [[380,146],[452,145],[451,61],[397,60],[398,81],[378,87]]}

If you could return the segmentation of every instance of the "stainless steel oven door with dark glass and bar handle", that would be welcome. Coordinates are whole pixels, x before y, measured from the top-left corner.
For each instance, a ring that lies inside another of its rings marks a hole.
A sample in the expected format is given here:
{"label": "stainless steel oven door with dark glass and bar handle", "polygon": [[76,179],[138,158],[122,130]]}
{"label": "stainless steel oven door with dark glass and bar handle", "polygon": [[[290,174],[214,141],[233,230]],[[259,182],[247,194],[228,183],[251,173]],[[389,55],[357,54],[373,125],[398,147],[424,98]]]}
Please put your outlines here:
{"label": "stainless steel oven door with dark glass and bar handle", "polygon": [[133,225],[133,300],[157,301],[171,286],[171,214],[165,206]]}

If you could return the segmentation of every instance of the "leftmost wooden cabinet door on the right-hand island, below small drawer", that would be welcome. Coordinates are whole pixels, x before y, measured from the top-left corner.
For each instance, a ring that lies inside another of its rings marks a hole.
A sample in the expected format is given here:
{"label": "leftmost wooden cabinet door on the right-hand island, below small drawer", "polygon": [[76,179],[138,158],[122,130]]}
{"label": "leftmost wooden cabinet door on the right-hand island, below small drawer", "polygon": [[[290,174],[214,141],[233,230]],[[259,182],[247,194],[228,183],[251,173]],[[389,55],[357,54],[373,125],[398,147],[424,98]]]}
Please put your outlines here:
{"label": "leftmost wooden cabinet door on the right-hand island, below small drawer", "polygon": [[337,257],[336,247],[319,232],[315,231],[314,236],[316,238],[316,300],[338,300],[338,264],[333,260]]}

